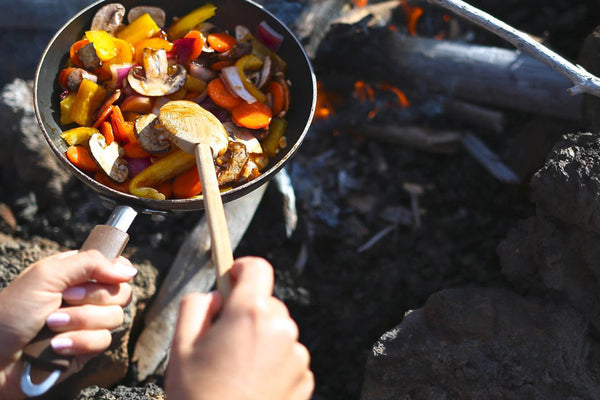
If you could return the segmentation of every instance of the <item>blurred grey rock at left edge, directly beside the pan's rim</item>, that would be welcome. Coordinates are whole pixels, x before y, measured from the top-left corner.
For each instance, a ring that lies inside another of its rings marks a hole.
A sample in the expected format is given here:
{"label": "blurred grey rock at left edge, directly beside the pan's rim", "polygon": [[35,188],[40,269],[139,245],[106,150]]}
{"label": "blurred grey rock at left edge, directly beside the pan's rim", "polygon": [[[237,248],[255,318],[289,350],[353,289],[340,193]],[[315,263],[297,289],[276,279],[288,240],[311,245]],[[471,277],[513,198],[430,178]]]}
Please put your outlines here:
{"label": "blurred grey rock at left edge, directly beside the pan's rim", "polygon": [[0,93],[0,163],[2,178],[17,179],[19,190],[35,193],[44,207],[63,195],[71,175],[44,139],[35,118],[32,91],[31,81],[16,79]]}

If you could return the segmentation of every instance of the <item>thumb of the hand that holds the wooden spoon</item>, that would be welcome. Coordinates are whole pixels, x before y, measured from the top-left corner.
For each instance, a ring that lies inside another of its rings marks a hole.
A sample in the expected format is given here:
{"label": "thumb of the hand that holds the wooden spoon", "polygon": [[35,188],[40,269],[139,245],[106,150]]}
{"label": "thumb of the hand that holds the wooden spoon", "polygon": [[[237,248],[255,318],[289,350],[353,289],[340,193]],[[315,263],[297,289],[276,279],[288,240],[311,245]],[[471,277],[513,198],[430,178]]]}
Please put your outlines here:
{"label": "thumb of the hand that holds the wooden spoon", "polygon": [[207,294],[192,293],[179,304],[179,314],[175,326],[173,346],[188,348],[211,326],[221,309],[221,295],[216,292]]}

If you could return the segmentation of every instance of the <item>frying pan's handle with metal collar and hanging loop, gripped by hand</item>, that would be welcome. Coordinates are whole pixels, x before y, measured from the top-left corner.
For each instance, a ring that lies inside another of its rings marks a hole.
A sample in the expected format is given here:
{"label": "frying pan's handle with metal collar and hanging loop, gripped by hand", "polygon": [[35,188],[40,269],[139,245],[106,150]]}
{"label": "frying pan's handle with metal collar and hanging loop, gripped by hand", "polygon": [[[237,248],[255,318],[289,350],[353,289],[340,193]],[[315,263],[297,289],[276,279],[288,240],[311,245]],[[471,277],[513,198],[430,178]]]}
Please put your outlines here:
{"label": "frying pan's handle with metal collar and hanging loop, gripped by hand", "polygon": [[[96,249],[109,259],[117,258],[129,241],[127,229],[136,216],[137,211],[129,206],[115,207],[105,225],[92,229],[81,250]],[[44,327],[23,349],[25,368],[21,374],[21,389],[28,397],[47,392],[71,365],[72,356],[61,356],[52,350],[53,336],[54,332]],[[41,382],[34,383],[34,380]]]}

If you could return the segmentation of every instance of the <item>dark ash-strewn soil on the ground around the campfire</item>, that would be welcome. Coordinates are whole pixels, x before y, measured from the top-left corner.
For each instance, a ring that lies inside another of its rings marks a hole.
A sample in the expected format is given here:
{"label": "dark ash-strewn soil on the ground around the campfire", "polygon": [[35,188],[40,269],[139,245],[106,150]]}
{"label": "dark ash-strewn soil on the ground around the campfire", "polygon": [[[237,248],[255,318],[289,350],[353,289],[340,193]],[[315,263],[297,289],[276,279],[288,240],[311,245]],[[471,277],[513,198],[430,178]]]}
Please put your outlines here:
{"label": "dark ash-strewn soil on the ground around the campfire", "polygon": [[[567,57],[576,57],[600,21],[600,6],[591,0],[472,3],[546,37]],[[479,43],[500,45],[491,35],[475,32]],[[318,60],[315,67],[319,72]],[[517,165],[521,160],[515,143],[534,117],[507,115],[505,132],[486,133],[485,138]],[[534,167],[542,165],[544,156],[532,161]],[[510,286],[501,274],[496,247],[510,228],[533,213],[528,188],[532,171],[523,172],[522,184],[509,186],[466,152],[435,154],[368,141],[356,132],[320,129],[309,133],[287,171],[298,200],[297,229],[286,236],[282,195],[270,185],[235,255],[262,256],[275,266],[275,293],[289,307],[312,355],[314,399],[358,399],[371,346],[433,293],[450,287]],[[403,188],[407,182],[424,188],[418,199],[419,227],[401,218],[410,215],[411,198]],[[28,192],[6,173],[0,193],[0,201],[18,215],[15,236],[24,240],[39,236],[75,248],[108,215],[96,194],[75,181],[61,201],[29,214],[33,203]],[[200,217],[138,217],[130,230],[132,260],[150,259],[164,272]],[[370,242],[380,233],[379,240]]]}

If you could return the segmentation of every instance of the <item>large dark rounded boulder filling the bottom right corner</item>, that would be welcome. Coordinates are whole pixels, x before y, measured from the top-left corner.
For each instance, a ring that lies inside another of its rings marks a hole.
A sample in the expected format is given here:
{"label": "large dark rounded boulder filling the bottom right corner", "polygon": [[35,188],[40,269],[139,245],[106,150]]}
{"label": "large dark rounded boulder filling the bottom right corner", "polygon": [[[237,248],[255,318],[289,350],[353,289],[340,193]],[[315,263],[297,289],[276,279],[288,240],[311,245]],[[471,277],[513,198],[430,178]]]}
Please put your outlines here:
{"label": "large dark rounded boulder filling the bottom right corner", "polygon": [[565,302],[447,289],[373,346],[361,400],[593,399],[596,357]]}

